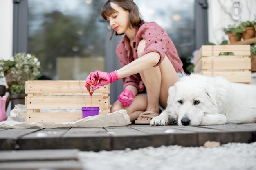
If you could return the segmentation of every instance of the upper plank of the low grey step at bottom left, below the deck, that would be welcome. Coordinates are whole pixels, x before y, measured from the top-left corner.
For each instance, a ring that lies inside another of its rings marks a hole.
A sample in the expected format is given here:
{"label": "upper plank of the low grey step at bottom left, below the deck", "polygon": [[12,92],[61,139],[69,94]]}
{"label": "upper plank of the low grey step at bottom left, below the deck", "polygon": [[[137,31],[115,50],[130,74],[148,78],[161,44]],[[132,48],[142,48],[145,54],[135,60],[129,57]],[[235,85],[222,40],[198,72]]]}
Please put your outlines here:
{"label": "upper plank of the low grey step at bottom left, below the deck", "polygon": [[0,162],[78,160],[78,149],[0,151]]}

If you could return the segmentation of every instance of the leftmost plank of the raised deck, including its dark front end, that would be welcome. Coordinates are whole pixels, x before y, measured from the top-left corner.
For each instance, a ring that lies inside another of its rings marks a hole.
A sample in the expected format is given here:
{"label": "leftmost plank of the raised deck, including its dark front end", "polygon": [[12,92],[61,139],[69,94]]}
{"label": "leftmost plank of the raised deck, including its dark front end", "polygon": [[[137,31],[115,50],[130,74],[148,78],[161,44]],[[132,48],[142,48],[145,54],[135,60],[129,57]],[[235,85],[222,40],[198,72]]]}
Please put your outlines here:
{"label": "leftmost plank of the raised deck, including its dark front end", "polygon": [[33,133],[41,128],[7,129],[0,131],[0,150],[15,150],[19,148],[17,140],[23,135]]}

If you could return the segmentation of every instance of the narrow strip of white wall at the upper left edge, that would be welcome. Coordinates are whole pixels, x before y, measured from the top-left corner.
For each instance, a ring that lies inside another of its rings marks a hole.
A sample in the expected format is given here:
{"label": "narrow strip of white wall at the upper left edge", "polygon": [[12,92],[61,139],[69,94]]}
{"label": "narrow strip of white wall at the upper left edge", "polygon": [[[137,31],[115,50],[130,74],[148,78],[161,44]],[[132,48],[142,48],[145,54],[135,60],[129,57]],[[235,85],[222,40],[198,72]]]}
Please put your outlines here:
{"label": "narrow strip of white wall at the upper left edge", "polygon": [[0,0],[0,59],[12,56],[13,0]]}

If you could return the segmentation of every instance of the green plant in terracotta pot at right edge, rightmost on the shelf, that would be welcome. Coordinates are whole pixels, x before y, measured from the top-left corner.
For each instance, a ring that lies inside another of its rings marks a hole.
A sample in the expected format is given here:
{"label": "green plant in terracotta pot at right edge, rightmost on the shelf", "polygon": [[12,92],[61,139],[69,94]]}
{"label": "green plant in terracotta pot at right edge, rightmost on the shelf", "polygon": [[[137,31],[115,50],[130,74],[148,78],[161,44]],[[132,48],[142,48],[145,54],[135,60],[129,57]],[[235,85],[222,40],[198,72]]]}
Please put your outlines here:
{"label": "green plant in terracotta pot at right edge, rightmost on the shelf", "polygon": [[255,37],[255,21],[243,21],[236,28],[234,28],[233,33],[236,35],[236,38],[242,37],[243,40],[251,39]]}

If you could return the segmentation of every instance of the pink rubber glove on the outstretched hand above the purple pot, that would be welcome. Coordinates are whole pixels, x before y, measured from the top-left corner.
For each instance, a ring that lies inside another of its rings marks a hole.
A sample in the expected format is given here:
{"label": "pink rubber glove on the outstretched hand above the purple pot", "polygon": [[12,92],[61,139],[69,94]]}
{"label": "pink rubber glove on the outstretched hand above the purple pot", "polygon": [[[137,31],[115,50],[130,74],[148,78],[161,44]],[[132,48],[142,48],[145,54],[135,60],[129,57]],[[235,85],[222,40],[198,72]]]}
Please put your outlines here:
{"label": "pink rubber glove on the outstretched hand above the purple pot", "polygon": [[95,71],[95,72],[91,72],[89,74],[89,76],[86,78],[86,84],[85,87],[87,87],[88,82],[91,80],[92,83],[95,82],[95,78],[98,78],[99,83],[97,85],[95,85],[94,87],[92,87],[92,91],[99,89],[100,87],[103,87],[104,85],[108,85],[114,81],[119,80],[119,77],[117,75],[117,71],[113,71],[113,72],[101,72],[99,70]]}

